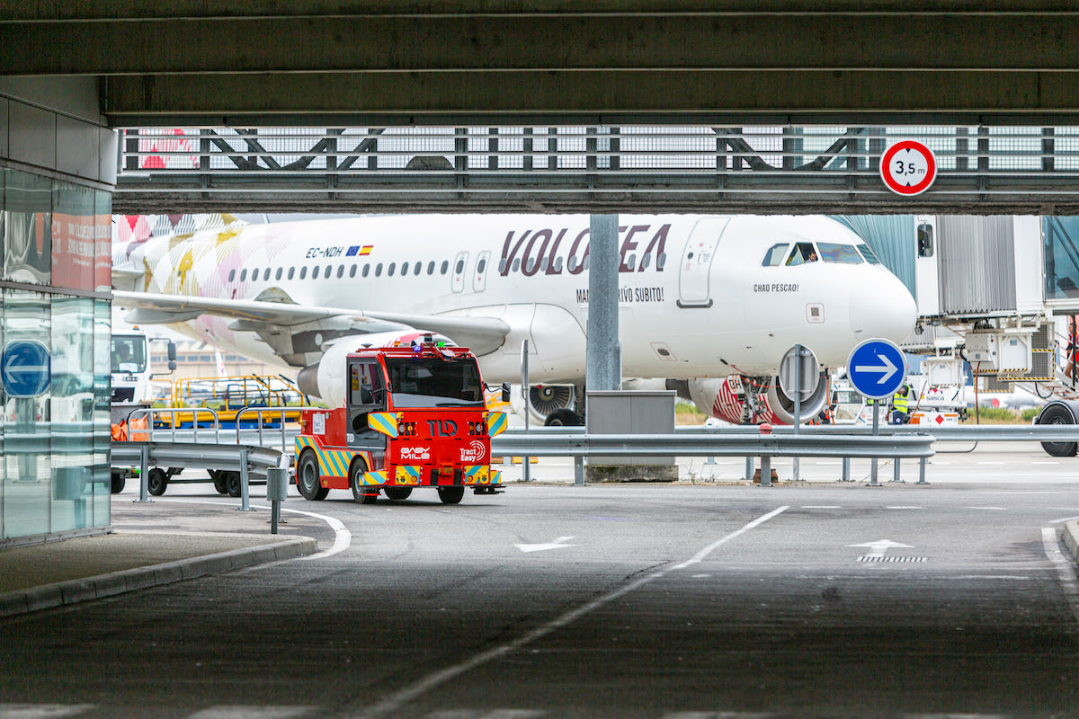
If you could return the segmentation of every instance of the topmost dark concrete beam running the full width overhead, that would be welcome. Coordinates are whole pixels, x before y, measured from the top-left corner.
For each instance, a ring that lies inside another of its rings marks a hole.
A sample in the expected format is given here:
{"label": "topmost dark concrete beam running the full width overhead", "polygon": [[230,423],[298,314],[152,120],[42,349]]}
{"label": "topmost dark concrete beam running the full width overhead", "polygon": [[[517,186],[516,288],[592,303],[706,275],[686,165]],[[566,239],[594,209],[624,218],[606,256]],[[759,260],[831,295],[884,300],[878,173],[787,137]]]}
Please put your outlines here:
{"label": "topmost dark concrete beam running the full width overhead", "polygon": [[1079,14],[1071,13],[26,22],[0,23],[0,74],[1077,71],[1077,37]]}

